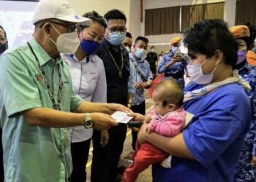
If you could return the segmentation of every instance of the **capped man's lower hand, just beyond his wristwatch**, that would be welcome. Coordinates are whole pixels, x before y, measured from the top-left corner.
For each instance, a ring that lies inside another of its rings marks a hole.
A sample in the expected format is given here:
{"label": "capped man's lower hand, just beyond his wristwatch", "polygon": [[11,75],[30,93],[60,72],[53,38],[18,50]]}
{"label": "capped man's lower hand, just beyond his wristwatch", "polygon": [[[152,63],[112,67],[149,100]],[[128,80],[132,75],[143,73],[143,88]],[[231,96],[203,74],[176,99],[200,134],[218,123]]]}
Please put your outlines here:
{"label": "capped man's lower hand, just beyond his wristwatch", "polygon": [[94,122],[95,130],[108,130],[110,127],[117,126],[118,122],[108,114],[91,113],[91,119]]}

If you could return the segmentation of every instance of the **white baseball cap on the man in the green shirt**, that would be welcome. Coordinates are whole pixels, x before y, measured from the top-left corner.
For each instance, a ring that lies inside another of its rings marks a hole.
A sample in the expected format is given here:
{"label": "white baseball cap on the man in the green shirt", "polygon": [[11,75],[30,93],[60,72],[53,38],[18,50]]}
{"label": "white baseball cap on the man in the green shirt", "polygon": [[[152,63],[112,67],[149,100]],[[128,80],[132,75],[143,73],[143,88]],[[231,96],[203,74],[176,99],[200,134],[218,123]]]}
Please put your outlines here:
{"label": "white baseball cap on the man in the green shirt", "polygon": [[67,0],[40,0],[34,10],[33,23],[57,19],[80,25],[91,25],[91,19],[76,15]]}

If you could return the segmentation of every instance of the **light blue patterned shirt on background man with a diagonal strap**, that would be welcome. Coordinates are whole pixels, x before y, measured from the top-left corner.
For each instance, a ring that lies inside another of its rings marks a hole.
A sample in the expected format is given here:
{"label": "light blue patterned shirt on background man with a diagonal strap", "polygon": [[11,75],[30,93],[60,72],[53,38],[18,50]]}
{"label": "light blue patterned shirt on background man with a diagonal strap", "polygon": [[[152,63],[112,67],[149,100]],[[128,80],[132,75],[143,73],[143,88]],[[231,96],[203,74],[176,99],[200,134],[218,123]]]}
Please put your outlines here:
{"label": "light blue patterned shirt on background man with a diagonal strap", "polygon": [[[130,58],[130,65],[135,70],[135,82],[145,82],[138,74],[138,71],[136,70],[135,66],[138,66],[138,69],[140,70],[140,73],[143,75],[143,77],[148,81],[152,79],[152,74],[150,71],[150,66],[148,61],[146,60],[136,60],[132,53],[129,54]],[[144,98],[144,89],[136,89],[135,94],[133,96],[132,106],[138,106],[140,103],[143,103],[145,100]]]}

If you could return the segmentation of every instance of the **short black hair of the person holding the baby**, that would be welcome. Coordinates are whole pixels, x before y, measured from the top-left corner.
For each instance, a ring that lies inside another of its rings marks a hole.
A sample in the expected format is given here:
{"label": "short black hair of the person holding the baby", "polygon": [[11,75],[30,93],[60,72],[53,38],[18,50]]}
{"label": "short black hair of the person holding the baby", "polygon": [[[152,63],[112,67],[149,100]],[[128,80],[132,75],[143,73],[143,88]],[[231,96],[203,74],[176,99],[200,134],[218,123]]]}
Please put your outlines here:
{"label": "short black hair of the person holding the baby", "polygon": [[204,54],[207,58],[213,56],[216,50],[221,50],[225,64],[236,65],[238,44],[224,20],[202,20],[185,31],[184,35],[188,50]]}

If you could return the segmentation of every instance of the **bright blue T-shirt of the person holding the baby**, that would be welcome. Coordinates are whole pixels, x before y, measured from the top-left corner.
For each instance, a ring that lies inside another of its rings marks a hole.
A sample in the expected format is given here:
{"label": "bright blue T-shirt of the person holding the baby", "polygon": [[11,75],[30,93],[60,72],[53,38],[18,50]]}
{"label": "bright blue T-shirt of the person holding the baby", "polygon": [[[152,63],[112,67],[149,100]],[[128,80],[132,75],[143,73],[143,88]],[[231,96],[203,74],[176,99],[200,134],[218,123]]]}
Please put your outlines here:
{"label": "bright blue T-shirt of the person holding the baby", "polygon": [[[202,85],[192,82],[185,91]],[[244,88],[236,83],[184,103],[194,114],[183,132],[195,160],[173,156],[172,168],[153,166],[153,181],[231,182],[251,122],[251,107]]]}

